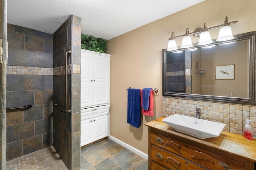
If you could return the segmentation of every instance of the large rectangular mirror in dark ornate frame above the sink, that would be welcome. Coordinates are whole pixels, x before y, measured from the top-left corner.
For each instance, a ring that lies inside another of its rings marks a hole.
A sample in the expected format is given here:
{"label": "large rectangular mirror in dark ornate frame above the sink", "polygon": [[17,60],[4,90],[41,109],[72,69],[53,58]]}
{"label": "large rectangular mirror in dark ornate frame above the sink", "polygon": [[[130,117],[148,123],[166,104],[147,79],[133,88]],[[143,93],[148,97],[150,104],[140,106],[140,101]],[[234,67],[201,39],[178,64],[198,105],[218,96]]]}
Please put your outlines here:
{"label": "large rectangular mirror in dark ornate frame above the sink", "polygon": [[229,41],[163,49],[163,96],[256,104],[255,35],[254,31]]}

